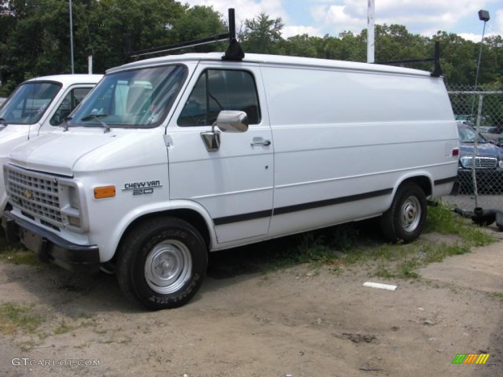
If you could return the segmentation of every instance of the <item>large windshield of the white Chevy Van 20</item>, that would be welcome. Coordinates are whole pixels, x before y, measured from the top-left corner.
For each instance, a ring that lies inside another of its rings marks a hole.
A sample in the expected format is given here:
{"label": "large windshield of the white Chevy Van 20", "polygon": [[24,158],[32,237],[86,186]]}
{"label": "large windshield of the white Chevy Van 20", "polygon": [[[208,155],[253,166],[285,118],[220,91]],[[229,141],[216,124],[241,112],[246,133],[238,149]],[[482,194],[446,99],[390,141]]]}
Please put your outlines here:
{"label": "large windshield of the white Chevy Van 20", "polygon": [[106,75],[78,106],[68,126],[156,127],[183,85],[186,68],[169,65]]}

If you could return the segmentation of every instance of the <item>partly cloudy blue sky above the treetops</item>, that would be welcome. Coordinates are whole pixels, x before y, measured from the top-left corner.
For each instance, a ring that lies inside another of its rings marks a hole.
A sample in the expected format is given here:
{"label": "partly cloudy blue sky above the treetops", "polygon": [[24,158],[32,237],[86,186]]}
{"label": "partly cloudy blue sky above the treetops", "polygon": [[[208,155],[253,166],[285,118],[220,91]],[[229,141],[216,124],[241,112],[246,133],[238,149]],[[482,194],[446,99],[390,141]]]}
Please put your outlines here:
{"label": "partly cloudy blue sky above the treetops", "polygon": [[[182,0],[183,1],[183,0]],[[283,37],[304,34],[337,36],[367,27],[367,0],[185,0],[191,6],[206,5],[226,15],[235,8],[236,23],[264,12],[281,17]],[[409,32],[431,37],[438,30],[480,41],[483,22],[480,9],[489,11],[486,35],[503,35],[503,0],[375,0],[376,24],[401,24]]]}

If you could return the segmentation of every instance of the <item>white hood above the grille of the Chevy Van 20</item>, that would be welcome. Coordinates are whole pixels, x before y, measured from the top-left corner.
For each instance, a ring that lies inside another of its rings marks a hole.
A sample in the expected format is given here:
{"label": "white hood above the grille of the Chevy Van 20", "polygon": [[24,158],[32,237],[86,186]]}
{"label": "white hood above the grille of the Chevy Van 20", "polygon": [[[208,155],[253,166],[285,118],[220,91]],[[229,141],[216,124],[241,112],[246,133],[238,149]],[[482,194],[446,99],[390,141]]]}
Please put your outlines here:
{"label": "white hood above the grille of the Chevy Van 20", "polygon": [[103,131],[45,134],[13,149],[9,162],[31,170],[72,176],[79,158],[117,140],[115,136]]}

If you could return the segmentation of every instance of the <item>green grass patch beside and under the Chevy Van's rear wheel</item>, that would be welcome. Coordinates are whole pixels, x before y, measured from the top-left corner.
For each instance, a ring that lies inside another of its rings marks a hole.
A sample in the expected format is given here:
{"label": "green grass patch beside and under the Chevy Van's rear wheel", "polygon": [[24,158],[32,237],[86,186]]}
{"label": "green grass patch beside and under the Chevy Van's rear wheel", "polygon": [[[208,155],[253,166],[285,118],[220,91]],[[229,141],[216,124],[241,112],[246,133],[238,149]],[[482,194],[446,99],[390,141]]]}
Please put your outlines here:
{"label": "green grass patch beside and under the Chevy Van's rear wheel", "polygon": [[419,239],[409,244],[388,244],[365,238],[366,234],[360,234],[354,224],[345,224],[290,237],[283,244],[273,242],[268,246],[262,270],[311,263],[328,265],[331,271],[338,272],[345,266],[366,263],[371,265],[375,276],[417,278],[420,277],[417,270],[429,263],[496,241],[443,204],[428,210],[425,233],[452,234],[456,236],[454,239],[446,243]]}

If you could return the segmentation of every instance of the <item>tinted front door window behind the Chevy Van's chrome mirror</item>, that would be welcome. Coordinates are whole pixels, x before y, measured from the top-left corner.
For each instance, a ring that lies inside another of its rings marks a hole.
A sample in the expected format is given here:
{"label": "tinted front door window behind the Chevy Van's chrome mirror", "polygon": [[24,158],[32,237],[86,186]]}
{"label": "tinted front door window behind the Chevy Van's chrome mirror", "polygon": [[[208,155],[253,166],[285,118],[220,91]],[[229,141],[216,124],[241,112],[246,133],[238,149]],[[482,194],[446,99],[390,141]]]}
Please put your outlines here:
{"label": "tinted front door window behind the Chevy Van's chrome mirror", "polygon": [[259,124],[261,113],[253,75],[247,71],[208,69],[197,80],[178,118],[181,127],[210,126],[221,110],[244,111],[249,124]]}

